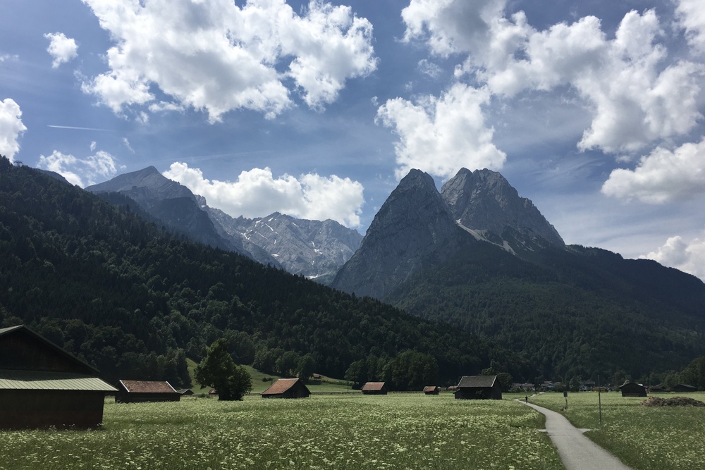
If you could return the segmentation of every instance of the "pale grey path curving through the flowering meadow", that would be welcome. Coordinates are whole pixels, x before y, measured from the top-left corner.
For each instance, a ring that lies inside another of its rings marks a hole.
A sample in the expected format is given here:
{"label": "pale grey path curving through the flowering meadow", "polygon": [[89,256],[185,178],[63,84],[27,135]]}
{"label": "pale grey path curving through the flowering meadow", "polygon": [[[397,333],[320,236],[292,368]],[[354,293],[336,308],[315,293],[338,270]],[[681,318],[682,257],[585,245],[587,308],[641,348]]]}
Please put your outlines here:
{"label": "pale grey path curving through the flowering meadow", "polygon": [[613,454],[582,435],[587,429],[576,428],[560,413],[525,403],[524,400],[520,402],[546,415],[546,431],[558,449],[566,470],[632,470]]}

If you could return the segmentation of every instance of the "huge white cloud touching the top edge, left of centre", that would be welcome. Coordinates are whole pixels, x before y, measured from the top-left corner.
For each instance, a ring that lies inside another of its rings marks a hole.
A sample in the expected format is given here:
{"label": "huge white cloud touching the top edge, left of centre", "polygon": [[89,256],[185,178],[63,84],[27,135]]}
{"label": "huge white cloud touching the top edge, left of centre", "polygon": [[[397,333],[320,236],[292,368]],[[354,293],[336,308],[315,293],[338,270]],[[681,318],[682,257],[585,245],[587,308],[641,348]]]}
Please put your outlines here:
{"label": "huge white cloud touching the top edge, left of centre", "polygon": [[[274,118],[300,93],[313,109],[335,101],[350,78],[376,68],[372,24],[348,6],[312,0],[301,15],[284,0],[83,0],[110,32],[110,70],[84,82],[114,112],[152,104],[233,109]],[[151,87],[171,97],[157,102]]]}

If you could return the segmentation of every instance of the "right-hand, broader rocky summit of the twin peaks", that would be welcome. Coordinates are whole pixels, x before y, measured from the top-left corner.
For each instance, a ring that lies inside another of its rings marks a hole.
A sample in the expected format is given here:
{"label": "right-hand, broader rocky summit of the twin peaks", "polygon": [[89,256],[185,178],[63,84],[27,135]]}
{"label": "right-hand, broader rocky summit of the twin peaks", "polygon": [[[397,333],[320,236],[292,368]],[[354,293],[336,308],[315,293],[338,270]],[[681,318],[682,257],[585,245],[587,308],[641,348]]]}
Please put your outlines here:
{"label": "right-hand, broader rocky summit of the twin peaks", "polygon": [[540,237],[551,245],[565,247],[556,228],[539,209],[529,199],[520,197],[496,171],[462,168],[443,185],[441,197],[455,221],[465,228],[494,234],[503,240],[510,230],[524,243],[541,245],[537,240]]}

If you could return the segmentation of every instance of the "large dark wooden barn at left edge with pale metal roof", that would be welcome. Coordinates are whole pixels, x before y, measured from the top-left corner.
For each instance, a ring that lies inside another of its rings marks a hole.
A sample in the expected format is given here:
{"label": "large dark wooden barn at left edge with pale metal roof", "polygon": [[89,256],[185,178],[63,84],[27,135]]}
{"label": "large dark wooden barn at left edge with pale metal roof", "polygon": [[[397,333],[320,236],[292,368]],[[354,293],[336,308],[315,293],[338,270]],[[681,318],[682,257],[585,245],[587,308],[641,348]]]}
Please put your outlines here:
{"label": "large dark wooden barn at left edge with pale metal roof", "polygon": [[92,366],[26,326],[0,328],[0,428],[98,428],[106,392]]}

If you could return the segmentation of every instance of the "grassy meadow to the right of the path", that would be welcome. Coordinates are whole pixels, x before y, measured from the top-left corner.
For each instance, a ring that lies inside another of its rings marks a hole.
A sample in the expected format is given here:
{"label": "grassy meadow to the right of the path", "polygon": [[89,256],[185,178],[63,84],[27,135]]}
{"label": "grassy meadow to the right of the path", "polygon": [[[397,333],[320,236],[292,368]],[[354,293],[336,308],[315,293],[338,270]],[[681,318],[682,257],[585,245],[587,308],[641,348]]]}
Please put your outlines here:
{"label": "grassy meadow to the right of the path", "polygon": [[[705,401],[705,393],[665,394]],[[622,397],[619,392],[601,394],[602,428],[595,392],[569,393],[563,414],[597,444],[637,470],[705,469],[705,408],[640,407],[644,398]],[[544,393],[529,402],[560,411],[565,398]]]}

